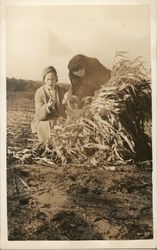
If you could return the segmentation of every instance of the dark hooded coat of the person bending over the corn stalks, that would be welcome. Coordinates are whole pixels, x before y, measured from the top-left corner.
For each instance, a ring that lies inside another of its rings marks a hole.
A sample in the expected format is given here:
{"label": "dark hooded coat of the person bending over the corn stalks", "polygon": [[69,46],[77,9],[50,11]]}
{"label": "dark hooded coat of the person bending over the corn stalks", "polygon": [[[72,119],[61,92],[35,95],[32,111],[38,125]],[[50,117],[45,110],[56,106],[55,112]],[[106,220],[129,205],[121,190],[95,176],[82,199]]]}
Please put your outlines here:
{"label": "dark hooded coat of the person bending over the corn stalks", "polygon": [[[84,55],[74,56],[69,61],[68,69],[73,94],[79,100],[87,96],[93,96],[94,92],[111,77],[111,71],[101,64],[98,59]],[[79,69],[85,70],[84,77],[78,77],[73,74],[74,71],[78,71]]]}

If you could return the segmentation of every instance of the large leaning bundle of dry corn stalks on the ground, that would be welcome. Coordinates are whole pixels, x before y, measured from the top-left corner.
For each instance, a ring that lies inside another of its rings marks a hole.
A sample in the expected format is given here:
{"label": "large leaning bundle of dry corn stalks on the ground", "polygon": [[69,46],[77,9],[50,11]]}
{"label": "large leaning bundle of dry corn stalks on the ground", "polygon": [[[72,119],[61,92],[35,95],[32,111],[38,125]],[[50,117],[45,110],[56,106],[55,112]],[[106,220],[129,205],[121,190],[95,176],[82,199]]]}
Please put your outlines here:
{"label": "large leaning bundle of dry corn stalks on the ground", "polygon": [[112,76],[92,102],[55,127],[50,141],[56,164],[117,165],[151,158],[144,121],[151,118],[151,82],[141,58],[116,55]]}

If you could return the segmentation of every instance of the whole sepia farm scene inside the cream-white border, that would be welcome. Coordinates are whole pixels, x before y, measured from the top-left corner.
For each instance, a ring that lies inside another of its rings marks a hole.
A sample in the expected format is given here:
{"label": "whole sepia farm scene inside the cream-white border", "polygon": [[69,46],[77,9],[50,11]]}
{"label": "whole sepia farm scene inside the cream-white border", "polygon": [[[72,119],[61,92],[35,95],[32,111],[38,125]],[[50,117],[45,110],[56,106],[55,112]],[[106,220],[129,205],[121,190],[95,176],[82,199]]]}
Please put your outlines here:
{"label": "whole sepia farm scene inside the cream-white border", "polygon": [[153,240],[151,5],[22,2],[5,6],[7,240]]}

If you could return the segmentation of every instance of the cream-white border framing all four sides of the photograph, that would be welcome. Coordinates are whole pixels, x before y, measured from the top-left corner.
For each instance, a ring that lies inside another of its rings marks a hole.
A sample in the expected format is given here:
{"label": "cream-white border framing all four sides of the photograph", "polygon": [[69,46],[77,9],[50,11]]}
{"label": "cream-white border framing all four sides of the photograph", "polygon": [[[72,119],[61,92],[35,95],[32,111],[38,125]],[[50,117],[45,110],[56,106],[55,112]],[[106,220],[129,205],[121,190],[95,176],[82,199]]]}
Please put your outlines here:
{"label": "cream-white border framing all four sides of the photograph", "polygon": [[[8,241],[7,240],[7,201],[6,201],[6,40],[5,40],[5,8],[6,6],[33,6],[33,5],[150,5],[151,6],[151,57],[152,57],[152,100],[153,100],[153,240],[115,240],[115,241]],[[96,248],[157,248],[157,75],[156,75],[156,8],[155,0],[1,0],[1,71],[0,71],[0,166],[1,170],[1,249],[96,249]]]}

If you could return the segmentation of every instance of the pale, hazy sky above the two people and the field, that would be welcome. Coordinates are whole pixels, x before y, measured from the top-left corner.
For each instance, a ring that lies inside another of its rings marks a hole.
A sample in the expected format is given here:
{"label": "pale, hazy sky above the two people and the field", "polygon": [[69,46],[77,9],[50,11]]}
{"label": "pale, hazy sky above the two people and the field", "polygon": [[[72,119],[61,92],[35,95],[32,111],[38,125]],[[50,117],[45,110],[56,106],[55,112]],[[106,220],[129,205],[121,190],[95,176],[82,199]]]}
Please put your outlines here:
{"label": "pale, hazy sky above the two people and the field", "polygon": [[112,69],[116,51],[143,56],[150,66],[149,6],[7,7],[7,77],[42,80],[43,69],[53,65],[59,81],[69,82],[73,56],[96,57]]}

